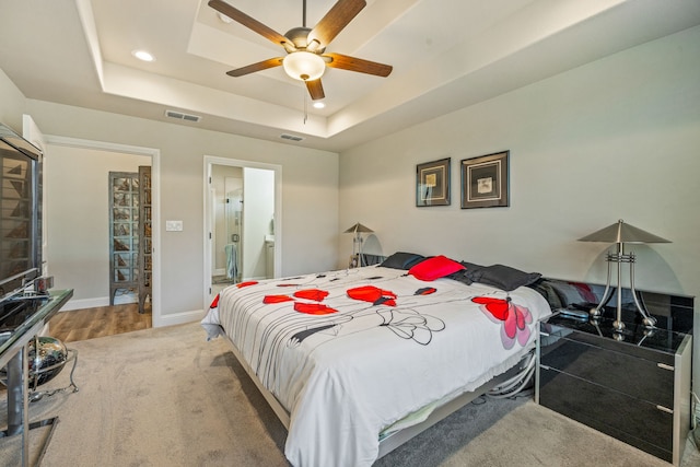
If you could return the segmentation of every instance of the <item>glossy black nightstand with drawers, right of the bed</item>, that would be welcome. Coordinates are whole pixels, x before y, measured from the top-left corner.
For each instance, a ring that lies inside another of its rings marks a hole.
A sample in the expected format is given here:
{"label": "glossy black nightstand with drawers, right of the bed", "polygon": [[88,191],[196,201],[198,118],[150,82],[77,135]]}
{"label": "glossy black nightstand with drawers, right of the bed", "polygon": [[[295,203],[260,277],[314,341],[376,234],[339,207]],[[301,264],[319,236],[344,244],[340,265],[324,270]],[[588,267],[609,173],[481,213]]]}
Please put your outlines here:
{"label": "glossy black nightstand with drawers, right of the bed", "polygon": [[691,417],[692,336],[555,314],[540,323],[535,400],[679,465]]}

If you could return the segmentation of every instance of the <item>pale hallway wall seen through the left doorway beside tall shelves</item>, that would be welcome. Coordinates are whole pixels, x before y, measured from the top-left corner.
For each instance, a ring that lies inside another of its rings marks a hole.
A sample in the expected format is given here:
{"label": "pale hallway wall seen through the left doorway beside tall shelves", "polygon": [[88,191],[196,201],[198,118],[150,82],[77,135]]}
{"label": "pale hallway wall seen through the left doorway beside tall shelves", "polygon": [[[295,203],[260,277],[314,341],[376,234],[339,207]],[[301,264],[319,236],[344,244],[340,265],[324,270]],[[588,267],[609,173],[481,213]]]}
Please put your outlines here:
{"label": "pale hallway wall seen through the left doorway beside tall shelves", "polygon": [[49,273],[73,289],[69,308],[109,304],[109,172],[138,172],[151,157],[60,145],[44,172]]}

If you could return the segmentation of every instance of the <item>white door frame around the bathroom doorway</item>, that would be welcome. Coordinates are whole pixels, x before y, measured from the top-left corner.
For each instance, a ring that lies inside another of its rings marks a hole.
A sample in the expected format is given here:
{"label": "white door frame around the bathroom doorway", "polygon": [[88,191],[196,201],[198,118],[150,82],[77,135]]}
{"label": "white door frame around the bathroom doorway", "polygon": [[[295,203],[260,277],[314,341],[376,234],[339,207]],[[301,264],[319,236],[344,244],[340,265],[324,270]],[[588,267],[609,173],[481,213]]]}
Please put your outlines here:
{"label": "white door frame around the bathroom doorway", "polygon": [[[211,170],[212,165],[228,165],[232,167],[243,168],[262,168],[275,172],[275,277],[280,277],[282,266],[282,166],[277,164],[267,164],[264,162],[244,161],[240,159],[228,159],[214,155],[203,156],[203,310],[209,310],[209,305],[212,301],[211,293],[211,258],[212,258],[212,242],[213,242],[213,225],[212,225],[212,212],[211,206]],[[245,180],[244,180],[245,184]]]}

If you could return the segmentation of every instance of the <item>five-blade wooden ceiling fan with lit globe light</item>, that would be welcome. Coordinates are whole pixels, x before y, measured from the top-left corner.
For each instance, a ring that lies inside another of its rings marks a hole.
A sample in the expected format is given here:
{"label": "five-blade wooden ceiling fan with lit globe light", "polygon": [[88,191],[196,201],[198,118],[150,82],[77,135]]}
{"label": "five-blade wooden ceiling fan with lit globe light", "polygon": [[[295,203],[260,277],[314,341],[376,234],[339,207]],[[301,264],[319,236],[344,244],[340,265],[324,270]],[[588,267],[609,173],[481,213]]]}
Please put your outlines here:
{"label": "five-blade wooden ceiling fan with lit globe light", "polygon": [[326,67],[360,73],[388,77],[393,67],[350,57],[342,54],[326,54],[326,47],[346,27],[350,21],[366,5],[365,0],[338,0],[336,4],[313,28],[306,27],[306,0],[303,1],[303,25],[293,27],[281,35],[259,21],[231,7],[223,0],[210,0],[209,7],[231,20],[241,23],[262,37],[284,48],[287,56],[270,58],[246,67],[226,72],[230,77],[243,77],[256,71],[282,66],[287,74],[306,84],[311,98],[325,97],[320,77]]}

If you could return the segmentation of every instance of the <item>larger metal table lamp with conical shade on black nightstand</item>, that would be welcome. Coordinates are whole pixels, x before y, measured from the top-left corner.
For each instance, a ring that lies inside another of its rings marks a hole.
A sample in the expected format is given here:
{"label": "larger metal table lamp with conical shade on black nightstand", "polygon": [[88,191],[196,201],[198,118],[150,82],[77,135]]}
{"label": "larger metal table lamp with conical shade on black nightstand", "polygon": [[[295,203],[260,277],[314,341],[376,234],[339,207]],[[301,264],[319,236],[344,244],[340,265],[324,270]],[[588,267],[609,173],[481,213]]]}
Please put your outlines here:
{"label": "larger metal table lamp with conical shade on black nightstand", "polygon": [[579,238],[579,242],[606,242],[615,243],[616,252],[608,250],[606,255],[606,261],[608,262],[608,279],[605,284],[605,291],[603,292],[603,299],[600,303],[591,310],[591,315],[598,317],[602,314],[600,308],[610,300],[612,288],[610,287],[611,265],[617,264],[617,319],[612,323],[612,327],[617,331],[625,329],[625,323],[622,323],[622,262],[630,265],[630,290],[632,292],[632,299],[637,310],[642,315],[642,323],[644,326],[653,328],[656,325],[656,319],[651,316],[644,307],[639,303],[637,299],[637,291],[634,290],[634,253],[625,253],[626,243],[670,243],[666,238],[662,238],[641,229],[634,227],[630,224],[626,224],[621,219],[612,225],[608,225],[605,229],[600,229],[597,232]]}

